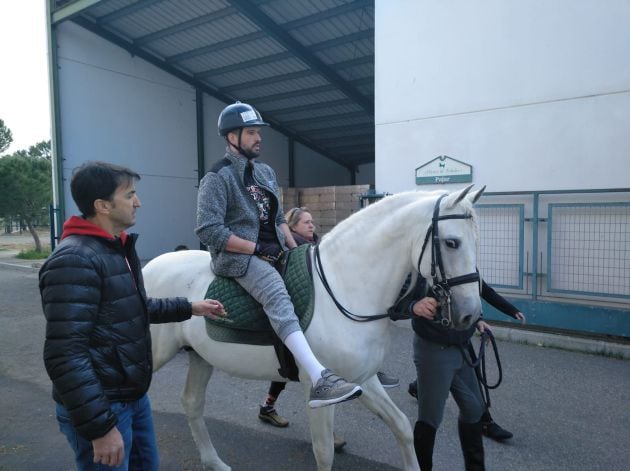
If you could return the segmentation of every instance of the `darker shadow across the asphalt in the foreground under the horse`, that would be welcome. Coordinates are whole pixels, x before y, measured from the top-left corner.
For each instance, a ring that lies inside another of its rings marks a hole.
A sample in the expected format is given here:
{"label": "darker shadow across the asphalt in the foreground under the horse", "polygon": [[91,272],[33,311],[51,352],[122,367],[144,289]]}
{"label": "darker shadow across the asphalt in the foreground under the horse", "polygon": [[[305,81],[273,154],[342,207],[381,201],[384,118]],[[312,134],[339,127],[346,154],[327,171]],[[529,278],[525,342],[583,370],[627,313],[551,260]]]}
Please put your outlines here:
{"label": "darker shadow across the asphalt in the foreground under the horse", "polygon": [[[65,438],[57,429],[48,391],[0,376],[3,422],[0,470],[67,471],[74,469]],[[28,406],[25,406],[28,404]],[[182,414],[154,412],[161,470],[201,471],[197,449]],[[233,470],[315,470],[310,443],[252,432],[225,421],[206,419],[214,445]],[[349,454],[335,455],[334,469],[387,471],[396,468]]]}

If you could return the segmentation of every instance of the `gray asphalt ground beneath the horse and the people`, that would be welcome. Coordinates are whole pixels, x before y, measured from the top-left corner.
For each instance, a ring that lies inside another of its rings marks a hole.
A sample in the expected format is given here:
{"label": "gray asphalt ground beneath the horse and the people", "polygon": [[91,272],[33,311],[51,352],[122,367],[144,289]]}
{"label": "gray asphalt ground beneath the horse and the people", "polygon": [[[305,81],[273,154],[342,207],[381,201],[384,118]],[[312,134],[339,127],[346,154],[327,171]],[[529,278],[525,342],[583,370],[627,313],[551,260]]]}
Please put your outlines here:
{"label": "gray asphalt ground beneath the horse and the people", "polygon": [[[42,364],[44,318],[37,272],[0,264],[0,470],[70,470],[72,455],[57,430],[50,384]],[[384,370],[401,378],[390,390],[415,420],[406,392],[414,376],[412,332],[394,328]],[[584,353],[499,342],[504,379],[492,394],[493,415],[514,433],[505,444],[485,440],[488,470],[629,469],[630,362]],[[153,401],[162,469],[202,469],[179,394],[187,358],[179,354],[154,376]],[[291,421],[277,429],[257,419],[267,384],[220,371],[207,391],[206,423],[223,460],[234,470],[314,470],[301,388],[287,387],[278,403]],[[436,470],[463,469],[449,399],[437,436]],[[335,430],[348,441],[335,470],[399,469],[392,434],[357,401],[337,407]]]}

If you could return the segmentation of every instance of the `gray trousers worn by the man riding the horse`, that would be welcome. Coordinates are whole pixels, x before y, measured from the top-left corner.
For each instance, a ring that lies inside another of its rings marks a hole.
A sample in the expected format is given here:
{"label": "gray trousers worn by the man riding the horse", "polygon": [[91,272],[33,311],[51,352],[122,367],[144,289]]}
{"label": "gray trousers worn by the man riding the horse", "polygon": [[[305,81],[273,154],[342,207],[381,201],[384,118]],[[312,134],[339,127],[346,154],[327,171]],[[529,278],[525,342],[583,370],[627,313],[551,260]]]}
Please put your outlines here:
{"label": "gray trousers worn by the man riding the horse", "polygon": [[300,329],[291,297],[278,271],[258,257],[251,257],[247,271],[234,280],[262,304],[271,327],[284,340]]}

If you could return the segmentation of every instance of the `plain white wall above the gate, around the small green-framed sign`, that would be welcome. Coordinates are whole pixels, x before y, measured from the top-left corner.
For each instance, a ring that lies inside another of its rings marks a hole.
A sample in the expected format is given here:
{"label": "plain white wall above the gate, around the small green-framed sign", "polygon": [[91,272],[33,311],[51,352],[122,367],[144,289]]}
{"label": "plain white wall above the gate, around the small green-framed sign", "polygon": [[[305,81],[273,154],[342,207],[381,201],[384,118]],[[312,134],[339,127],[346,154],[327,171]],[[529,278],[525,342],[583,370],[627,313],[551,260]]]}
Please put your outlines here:
{"label": "plain white wall above the gate, around the small green-framed sign", "polygon": [[[376,188],[439,155],[488,191],[630,182],[630,2],[376,0]],[[461,186],[461,185],[456,185]]]}

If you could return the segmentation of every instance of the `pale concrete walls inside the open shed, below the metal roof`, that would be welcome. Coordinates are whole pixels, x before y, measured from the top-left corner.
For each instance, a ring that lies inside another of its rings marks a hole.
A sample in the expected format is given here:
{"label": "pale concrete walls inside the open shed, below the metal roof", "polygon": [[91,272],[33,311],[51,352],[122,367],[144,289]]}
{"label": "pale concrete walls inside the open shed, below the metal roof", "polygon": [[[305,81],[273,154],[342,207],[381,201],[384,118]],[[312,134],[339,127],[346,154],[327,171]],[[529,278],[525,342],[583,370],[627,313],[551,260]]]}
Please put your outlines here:
{"label": "pale concrete walls inside the open shed, below the metal roof", "polygon": [[[190,85],[70,23],[57,27],[59,126],[66,218],[77,214],[69,179],[87,160],[126,165],[141,174],[143,206],[132,229],[142,235],[140,257],[152,258],[179,244],[198,247],[196,221],[196,96]],[[204,95],[204,164],[223,157],[216,124],[225,103]],[[264,117],[264,116],[263,116]],[[289,186],[288,138],[263,132],[261,160],[281,186]],[[296,186],[350,183],[348,171],[295,146]],[[58,204],[58,202],[57,202]]]}

